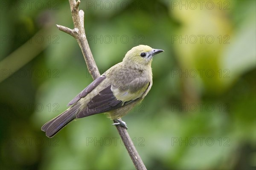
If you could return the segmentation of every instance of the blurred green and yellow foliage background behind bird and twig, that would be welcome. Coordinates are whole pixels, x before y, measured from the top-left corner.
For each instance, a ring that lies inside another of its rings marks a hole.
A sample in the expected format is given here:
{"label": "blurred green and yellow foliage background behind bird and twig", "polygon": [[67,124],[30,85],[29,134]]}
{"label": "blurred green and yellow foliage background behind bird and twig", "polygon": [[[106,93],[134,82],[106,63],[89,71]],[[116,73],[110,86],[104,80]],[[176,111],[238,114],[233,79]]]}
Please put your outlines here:
{"label": "blurred green and yellow foliage background behind bird and twig", "polygon": [[[104,114],[51,139],[41,131],[92,81],[76,40],[55,26],[73,28],[68,1],[0,2],[0,168],[134,169]],[[200,2],[82,0],[80,9],[101,73],[133,46],[165,50],[151,91],[123,118],[148,169],[255,169],[256,3]]]}

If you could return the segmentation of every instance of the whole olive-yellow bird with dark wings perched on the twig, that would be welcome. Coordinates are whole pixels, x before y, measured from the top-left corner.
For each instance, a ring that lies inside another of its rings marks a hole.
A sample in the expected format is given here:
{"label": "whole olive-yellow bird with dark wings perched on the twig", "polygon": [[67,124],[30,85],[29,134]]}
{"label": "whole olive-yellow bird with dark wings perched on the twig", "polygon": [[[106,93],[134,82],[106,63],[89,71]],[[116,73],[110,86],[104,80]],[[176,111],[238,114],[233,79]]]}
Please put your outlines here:
{"label": "whole olive-yellow bird with dark wings perched on the twig", "polygon": [[41,130],[52,138],[71,121],[99,113],[108,113],[116,122],[113,125],[128,129],[120,118],[148,94],[152,86],[152,58],[160,52],[164,50],[146,45],[133,47],[122,62],[90,83],[69,102],[67,110],[44,124]]}

